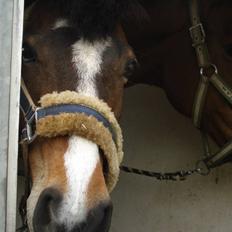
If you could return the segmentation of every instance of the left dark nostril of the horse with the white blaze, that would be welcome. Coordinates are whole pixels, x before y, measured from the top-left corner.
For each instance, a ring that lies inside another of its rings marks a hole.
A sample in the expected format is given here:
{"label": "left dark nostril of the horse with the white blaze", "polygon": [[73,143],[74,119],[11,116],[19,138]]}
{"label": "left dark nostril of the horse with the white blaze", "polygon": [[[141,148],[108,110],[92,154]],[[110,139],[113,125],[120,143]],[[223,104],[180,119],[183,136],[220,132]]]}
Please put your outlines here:
{"label": "left dark nostril of the horse with the white blaze", "polygon": [[52,220],[51,211],[55,212],[61,200],[62,195],[55,188],[47,188],[40,194],[33,216],[35,232],[45,231]]}

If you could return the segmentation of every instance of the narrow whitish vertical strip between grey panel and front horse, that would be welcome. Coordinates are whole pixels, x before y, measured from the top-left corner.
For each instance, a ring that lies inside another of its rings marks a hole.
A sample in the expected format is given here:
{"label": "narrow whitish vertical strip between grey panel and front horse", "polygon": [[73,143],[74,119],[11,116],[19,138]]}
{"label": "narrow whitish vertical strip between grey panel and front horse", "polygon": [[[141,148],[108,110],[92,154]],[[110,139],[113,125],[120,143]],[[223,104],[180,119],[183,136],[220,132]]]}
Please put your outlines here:
{"label": "narrow whitish vertical strip between grey panel and front horse", "polygon": [[16,229],[19,98],[24,11],[24,0],[13,0],[13,2],[6,232]]}

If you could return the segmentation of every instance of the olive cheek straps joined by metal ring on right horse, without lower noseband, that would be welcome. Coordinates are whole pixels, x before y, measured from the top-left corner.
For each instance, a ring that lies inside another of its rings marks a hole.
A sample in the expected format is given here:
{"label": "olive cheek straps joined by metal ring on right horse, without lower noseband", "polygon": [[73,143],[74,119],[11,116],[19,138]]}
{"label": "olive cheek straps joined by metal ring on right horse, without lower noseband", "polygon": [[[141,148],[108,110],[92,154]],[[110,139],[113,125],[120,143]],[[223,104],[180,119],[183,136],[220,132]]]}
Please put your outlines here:
{"label": "olive cheek straps joined by metal ring on right horse, without lower noseband", "polygon": [[[201,80],[193,107],[193,121],[194,125],[200,128],[201,114],[205,105],[205,98],[209,83],[211,83],[219,91],[219,93],[229,102],[230,105],[232,105],[232,88],[222,80],[218,74],[217,67],[213,65],[210,60],[206,45],[206,34],[199,17],[198,0],[191,0],[190,2],[190,14],[192,22],[190,35],[193,41],[193,47],[196,51],[201,75]],[[208,76],[205,71],[210,68],[213,69],[213,74]]]}

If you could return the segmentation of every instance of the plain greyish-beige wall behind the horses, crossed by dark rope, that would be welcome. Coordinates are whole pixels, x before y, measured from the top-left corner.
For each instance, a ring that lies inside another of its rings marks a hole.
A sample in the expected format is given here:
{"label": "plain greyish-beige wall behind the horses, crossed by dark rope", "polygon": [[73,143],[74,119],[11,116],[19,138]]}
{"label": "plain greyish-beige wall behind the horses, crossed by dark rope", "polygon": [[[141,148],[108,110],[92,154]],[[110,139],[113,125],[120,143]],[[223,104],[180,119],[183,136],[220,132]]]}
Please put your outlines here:
{"label": "plain greyish-beige wall behind the horses, crossed by dark rope", "polygon": [[[160,89],[126,90],[121,125],[125,165],[175,171],[194,167],[202,157],[199,132]],[[122,173],[112,194],[110,232],[231,232],[231,183],[231,164],[185,182]]]}

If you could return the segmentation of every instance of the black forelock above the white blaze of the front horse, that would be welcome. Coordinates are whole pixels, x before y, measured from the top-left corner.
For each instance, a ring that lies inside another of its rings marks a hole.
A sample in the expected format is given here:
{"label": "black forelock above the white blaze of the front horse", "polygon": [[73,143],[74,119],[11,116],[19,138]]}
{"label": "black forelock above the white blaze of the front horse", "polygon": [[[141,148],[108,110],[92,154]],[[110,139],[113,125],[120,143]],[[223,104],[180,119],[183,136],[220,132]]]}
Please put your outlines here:
{"label": "black forelock above the white blaze of the front horse", "polygon": [[[88,40],[106,38],[137,0],[66,0],[70,22]],[[133,7],[134,8],[134,7]]]}

